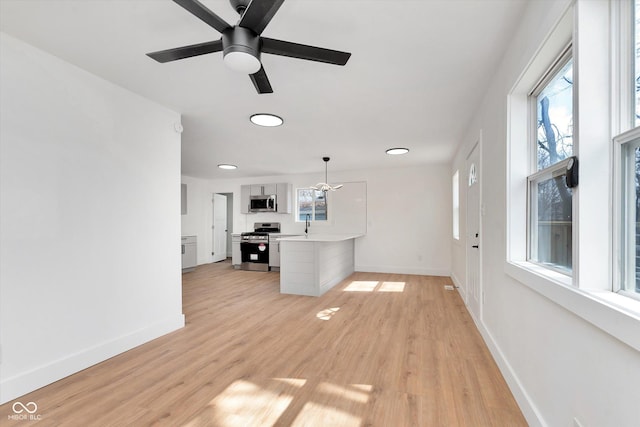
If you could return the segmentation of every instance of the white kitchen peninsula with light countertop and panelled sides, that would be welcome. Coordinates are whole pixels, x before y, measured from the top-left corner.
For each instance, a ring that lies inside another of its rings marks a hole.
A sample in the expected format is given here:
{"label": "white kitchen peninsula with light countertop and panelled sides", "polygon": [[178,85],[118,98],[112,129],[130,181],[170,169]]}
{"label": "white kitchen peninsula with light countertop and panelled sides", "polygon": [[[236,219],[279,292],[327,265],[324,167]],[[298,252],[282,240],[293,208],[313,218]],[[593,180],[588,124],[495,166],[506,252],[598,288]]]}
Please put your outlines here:
{"label": "white kitchen peninsula with light countertop and panelled sides", "polygon": [[320,296],[354,271],[355,239],[362,234],[279,238],[280,292]]}

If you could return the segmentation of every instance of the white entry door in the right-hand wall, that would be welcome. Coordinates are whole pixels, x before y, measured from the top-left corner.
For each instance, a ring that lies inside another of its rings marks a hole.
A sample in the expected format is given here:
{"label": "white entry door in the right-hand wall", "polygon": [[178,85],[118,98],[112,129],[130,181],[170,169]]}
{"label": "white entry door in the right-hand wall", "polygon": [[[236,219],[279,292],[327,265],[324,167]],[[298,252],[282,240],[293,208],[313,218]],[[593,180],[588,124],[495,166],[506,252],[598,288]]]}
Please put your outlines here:
{"label": "white entry door in the right-hand wall", "polygon": [[466,303],[476,318],[482,319],[482,275],[480,245],[480,155],[479,144],[467,158],[467,292]]}

